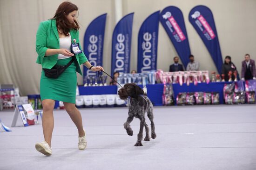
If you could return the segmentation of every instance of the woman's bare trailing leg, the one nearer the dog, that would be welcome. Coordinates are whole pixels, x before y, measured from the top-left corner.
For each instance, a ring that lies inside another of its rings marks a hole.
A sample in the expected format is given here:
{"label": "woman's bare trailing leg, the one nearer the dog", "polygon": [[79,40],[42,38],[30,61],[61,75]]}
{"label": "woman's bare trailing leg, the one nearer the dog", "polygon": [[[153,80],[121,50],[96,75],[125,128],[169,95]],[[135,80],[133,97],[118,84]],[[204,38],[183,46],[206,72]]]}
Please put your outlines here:
{"label": "woman's bare trailing leg, the one nearer the dog", "polygon": [[79,110],[75,107],[74,103],[67,103],[67,102],[63,102],[65,109],[67,111],[67,113],[69,114],[70,118],[73,120],[75,126],[78,129],[78,135],[79,136],[84,136],[84,130],[83,130],[83,124],[82,124],[82,117],[81,117],[81,113],[79,112]]}

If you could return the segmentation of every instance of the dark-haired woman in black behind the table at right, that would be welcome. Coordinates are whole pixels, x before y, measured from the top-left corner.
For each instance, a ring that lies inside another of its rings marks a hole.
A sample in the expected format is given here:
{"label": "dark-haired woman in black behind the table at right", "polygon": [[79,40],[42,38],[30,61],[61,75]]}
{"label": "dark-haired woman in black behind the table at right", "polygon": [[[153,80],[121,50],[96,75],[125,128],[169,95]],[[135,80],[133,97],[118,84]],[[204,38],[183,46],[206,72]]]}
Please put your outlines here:
{"label": "dark-haired woman in black behind the table at right", "polygon": [[[229,71],[232,71],[232,81],[235,80],[235,76],[234,76],[234,71],[236,71],[236,66],[234,63],[231,62],[231,57],[230,56],[226,56],[224,63],[222,64],[222,74],[224,74],[224,78],[225,81],[228,82],[229,81]],[[238,77],[238,74],[237,74]]]}

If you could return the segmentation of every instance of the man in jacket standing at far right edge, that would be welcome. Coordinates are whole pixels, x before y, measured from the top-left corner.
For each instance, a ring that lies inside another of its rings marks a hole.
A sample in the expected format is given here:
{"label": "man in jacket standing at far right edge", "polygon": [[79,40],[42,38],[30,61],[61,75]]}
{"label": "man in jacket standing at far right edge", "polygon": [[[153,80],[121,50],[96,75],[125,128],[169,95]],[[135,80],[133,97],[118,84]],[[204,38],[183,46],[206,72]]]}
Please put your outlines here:
{"label": "man in jacket standing at far right edge", "polygon": [[255,61],[250,59],[249,54],[245,54],[244,59],[242,62],[242,80],[256,80]]}

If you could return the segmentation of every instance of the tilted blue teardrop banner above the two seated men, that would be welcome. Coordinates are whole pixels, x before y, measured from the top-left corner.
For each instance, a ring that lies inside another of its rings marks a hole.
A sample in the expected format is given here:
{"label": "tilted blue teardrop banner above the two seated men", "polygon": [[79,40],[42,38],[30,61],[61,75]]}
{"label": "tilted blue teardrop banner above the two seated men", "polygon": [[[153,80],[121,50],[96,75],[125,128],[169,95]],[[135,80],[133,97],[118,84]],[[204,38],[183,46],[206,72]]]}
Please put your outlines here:
{"label": "tilted blue teardrop banner above the two seated men", "polygon": [[175,6],[168,6],[162,10],[160,21],[186,68],[189,63],[190,48],[182,11]]}

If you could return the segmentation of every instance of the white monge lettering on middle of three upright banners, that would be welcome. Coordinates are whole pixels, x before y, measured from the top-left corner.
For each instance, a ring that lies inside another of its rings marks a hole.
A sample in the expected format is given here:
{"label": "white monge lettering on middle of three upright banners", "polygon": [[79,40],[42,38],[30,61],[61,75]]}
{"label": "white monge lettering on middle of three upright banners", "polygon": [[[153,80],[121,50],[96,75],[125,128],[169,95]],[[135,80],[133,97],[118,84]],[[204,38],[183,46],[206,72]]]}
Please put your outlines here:
{"label": "white monge lettering on middle of three upright banners", "polygon": [[124,72],[124,56],[125,56],[125,36],[123,34],[118,34],[116,37],[117,43],[115,44],[115,69],[114,72]]}

